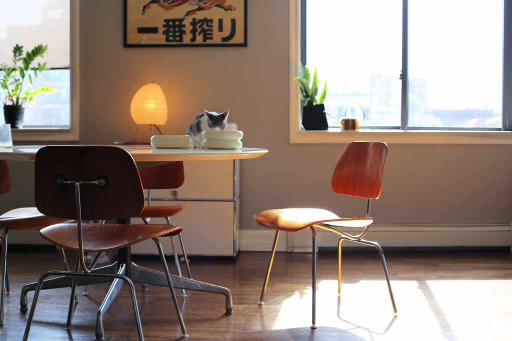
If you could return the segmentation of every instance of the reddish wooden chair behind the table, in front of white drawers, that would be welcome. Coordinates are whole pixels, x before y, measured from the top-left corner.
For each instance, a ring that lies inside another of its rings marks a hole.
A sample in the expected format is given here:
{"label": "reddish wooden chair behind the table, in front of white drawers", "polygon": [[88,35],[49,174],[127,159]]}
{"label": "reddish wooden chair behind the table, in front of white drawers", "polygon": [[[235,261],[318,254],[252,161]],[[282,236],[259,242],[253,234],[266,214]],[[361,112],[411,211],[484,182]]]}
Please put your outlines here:
{"label": "reddish wooden chair behind the table, in front of white drawers", "polygon": [[[116,142],[118,145],[151,145],[150,142]],[[186,202],[181,202],[173,206],[151,206],[151,190],[164,190],[164,189],[177,189],[183,185],[185,181],[185,172],[183,170],[183,161],[176,161],[159,166],[144,168],[139,170],[142,187],[147,190],[147,206],[144,206],[142,212],[136,218],[142,218],[145,224],[149,224],[151,218],[165,218],[167,225],[170,225],[170,217],[181,212],[186,206]],[[181,250],[183,252],[183,259],[188,272],[188,278],[192,279],[190,266],[188,265],[188,258],[185,252],[185,245],[183,244],[183,237],[181,233],[178,235],[180,238]],[[181,269],[176,252],[176,245],[173,237],[170,237],[170,243],[173,246],[174,262],[178,270],[178,276],[181,277]],[[182,295],[185,296],[185,290],[182,290]]]}

